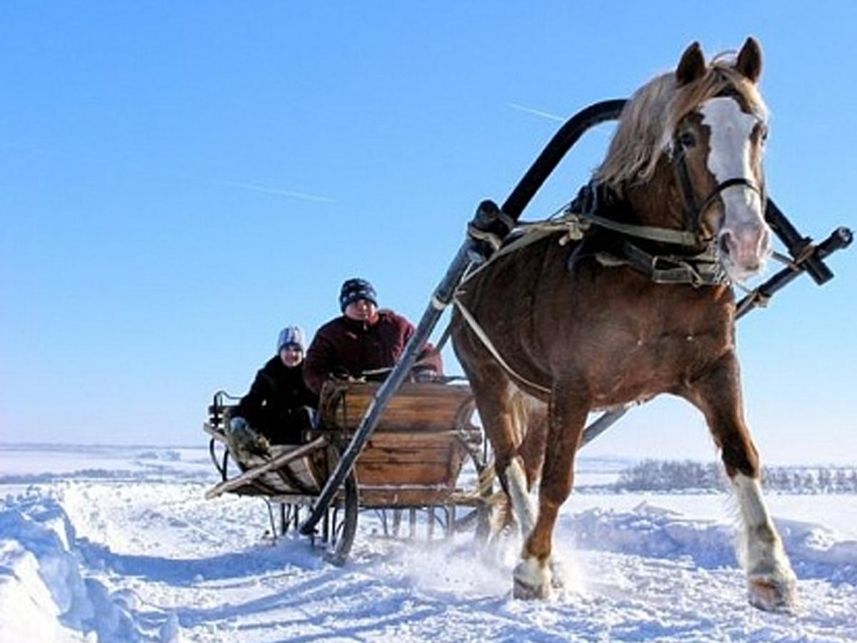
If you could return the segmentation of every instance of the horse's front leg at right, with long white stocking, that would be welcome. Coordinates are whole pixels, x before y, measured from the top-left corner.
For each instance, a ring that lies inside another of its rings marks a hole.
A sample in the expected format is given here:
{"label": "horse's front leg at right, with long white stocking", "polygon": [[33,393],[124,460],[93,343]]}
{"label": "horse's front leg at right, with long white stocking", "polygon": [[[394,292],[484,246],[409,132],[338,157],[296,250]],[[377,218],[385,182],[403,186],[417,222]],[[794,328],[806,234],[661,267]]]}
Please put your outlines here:
{"label": "horse's front leg at right, with long white stocking", "polygon": [[762,496],[758,453],[744,422],[734,354],[694,382],[688,399],[704,413],[738,501],[739,558],[747,574],[750,604],[761,610],[790,611],[794,572]]}

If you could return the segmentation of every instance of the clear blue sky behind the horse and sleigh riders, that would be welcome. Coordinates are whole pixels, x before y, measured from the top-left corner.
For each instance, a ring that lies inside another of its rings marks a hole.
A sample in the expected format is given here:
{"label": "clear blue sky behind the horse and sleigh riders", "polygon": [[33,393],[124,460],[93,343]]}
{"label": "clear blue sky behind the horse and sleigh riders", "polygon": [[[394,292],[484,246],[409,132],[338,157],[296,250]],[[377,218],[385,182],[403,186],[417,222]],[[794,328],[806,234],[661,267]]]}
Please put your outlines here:
{"label": "clear blue sky behind the horse and sleigh riders", "polygon": [[[533,111],[624,98],[695,39],[759,39],[770,194],[811,237],[855,227],[855,24],[844,1],[3,3],[0,442],[202,442],[213,392],[337,315],[351,276],[416,322],[478,201],[559,128]],[[857,460],[857,251],[829,263],[740,322],[766,461]],[[587,453],[714,451],[662,400]]]}

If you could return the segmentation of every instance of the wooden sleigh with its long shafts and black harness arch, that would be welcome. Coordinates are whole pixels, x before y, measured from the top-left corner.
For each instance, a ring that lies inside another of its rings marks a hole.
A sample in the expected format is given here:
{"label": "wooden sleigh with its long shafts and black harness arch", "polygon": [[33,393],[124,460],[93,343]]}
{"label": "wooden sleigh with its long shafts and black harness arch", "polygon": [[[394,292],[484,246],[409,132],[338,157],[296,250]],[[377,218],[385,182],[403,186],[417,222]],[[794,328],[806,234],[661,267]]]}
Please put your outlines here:
{"label": "wooden sleigh with its long shafts and black harness arch", "polygon": [[[228,451],[220,458],[215,453],[215,443],[223,442],[222,427],[228,423],[229,407],[222,396],[216,396],[206,430],[213,436],[212,457],[223,482],[207,496],[226,492],[264,496],[269,508],[271,502],[279,502],[281,530],[292,525],[311,538],[320,535],[329,546],[330,560],[339,564],[345,562],[351,549],[361,508],[393,509],[395,525],[399,524],[399,510],[408,510],[411,533],[417,508],[430,512],[429,526],[434,525],[434,512],[440,509],[444,514],[440,524],[446,533],[475,522],[477,537],[484,536],[495,497],[493,467],[486,461],[488,450],[482,432],[470,421],[474,404],[469,387],[403,382],[465,274],[488,261],[516,229],[524,207],[578,138],[596,124],[618,118],[625,103],[624,99],[607,100],[579,111],[548,142],[501,207],[482,201],[398,364],[381,385],[357,384],[324,391],[320,426],[308,443],[275,454],[271,460],[239,463],[242,472],[230,478]],[[839,227],[823,242],[814,243],[802,236],[770,199],[765,219],[788,255],[775,253],[784,266],[740,299],[736,317],[764,306],[801,273],[808,273],[818,285],[832,279],[824,259],[852,241],[852,232]],[[653,271],[658,269],[652,266]],[[443,342],[440,340],[439,345]],[[596,418],[584,430],[583,444],[614,424],[628,408],[614,408]],[[458,477],[468,458],[479,477],[474,489],[463,491],[457,487]],[[434,470],[432,476],[421,477],[421,472],[429,469]],[[459,506],[469,507],[471,512],[456,520],[455,508]],[[298,512],[303,507],[310,512],[301,523]],[[386,514],[383,524],[386,532]]]}

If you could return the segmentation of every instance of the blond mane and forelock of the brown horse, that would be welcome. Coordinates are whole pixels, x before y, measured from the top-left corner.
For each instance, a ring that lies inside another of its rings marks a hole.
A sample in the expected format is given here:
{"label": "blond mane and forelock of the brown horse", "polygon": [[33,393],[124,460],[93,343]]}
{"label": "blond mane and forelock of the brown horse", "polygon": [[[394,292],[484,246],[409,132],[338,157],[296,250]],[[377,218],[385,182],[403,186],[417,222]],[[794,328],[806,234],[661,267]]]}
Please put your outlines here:
{"label": "blond mane and forelock of the brown horse", "polygon": [[656,76],[622,110],[607,155],[594,173],[596,181],[619,195],[627,185],[649,181],[657,162],[671,149],[680,120],[705,100],[729,91],[738,93],[758,117],[767,119],[768,110],[756,84],[722,56],[709,63],[704,75],[681,87],[674,71]]}

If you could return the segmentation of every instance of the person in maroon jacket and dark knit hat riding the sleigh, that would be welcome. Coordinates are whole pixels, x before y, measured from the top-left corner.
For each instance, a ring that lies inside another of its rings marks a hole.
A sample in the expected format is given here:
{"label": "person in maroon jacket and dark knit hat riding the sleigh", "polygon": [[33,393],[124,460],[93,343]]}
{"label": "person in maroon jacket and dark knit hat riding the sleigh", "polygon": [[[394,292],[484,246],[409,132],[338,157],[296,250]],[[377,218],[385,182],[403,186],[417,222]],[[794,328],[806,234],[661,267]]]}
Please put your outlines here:
{"label": "person in maroon jacket and dark knit hat riding the sleigh", "polygon": [[[303,364],[303,380],[315,394],[331,378],[383,380],[414,334],[411,322],[393,310],[378,309],[375,288],[366,279],[348,279],[339,291],[339,316],[318,329]],[[427,345],[417,358],[413,379],[441,375],[440,354]]]}

